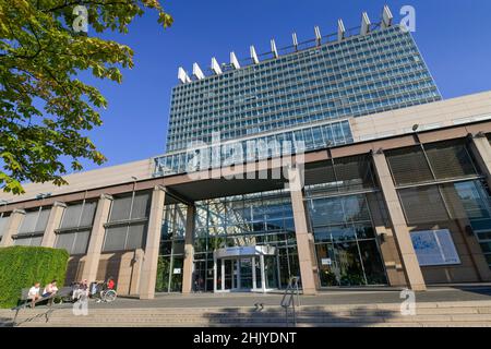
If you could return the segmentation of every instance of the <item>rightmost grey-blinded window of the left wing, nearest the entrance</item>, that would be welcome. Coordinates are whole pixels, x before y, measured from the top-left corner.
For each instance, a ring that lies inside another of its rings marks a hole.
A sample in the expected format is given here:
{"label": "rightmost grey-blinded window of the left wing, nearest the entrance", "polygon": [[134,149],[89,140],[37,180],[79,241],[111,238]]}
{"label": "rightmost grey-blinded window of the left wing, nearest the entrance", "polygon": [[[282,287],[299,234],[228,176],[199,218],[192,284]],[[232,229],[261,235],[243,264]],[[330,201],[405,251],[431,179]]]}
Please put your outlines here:
{"label": "rightmost grey-blinded window of the left wing, nearest the entrance", "polygon": [[106,224],[103,251],[127,251],[143,248],[147,229],[151,192],[115,197]]}

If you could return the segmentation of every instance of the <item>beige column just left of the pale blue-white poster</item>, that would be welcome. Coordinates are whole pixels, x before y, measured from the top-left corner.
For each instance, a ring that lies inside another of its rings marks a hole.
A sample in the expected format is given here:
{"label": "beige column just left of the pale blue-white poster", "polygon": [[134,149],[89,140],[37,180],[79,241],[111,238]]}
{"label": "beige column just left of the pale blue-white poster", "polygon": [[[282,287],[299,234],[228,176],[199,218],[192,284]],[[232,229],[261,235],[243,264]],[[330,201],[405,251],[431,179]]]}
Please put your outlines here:
{"label": "beige column just left of the pale blue-white poster", "polygon": [[383,153],[373,154],[373,164],[382,189],[388,218],[392,221],[394,229],[394,236],[396,238],[408,287],[415,291],[423,291],[427,289],[427,286],[412,246],[409,229],[404,217],[403,207],[394,186],[394,181],[392,180],[385,155]]}

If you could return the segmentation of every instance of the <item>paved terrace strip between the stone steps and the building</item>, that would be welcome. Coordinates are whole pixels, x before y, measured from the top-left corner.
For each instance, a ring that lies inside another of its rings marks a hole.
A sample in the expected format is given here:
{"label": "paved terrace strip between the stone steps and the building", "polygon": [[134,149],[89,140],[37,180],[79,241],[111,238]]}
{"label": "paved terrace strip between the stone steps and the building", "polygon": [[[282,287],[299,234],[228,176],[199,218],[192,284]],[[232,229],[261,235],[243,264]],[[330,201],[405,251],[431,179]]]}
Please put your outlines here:
{"label": "paved terrace strip between the stone steps and the building", "polygon": [[[400,303],[400,290],[331,290],[318,296],[300,296],[301,305],[335,305],[335,304],[383,304]],[[180,293],[157,294],[153,300],[118,298],[113,303],[92,303],[94,308],[238,308],[279,305],[282,293]],[[491,301],[491,285],[466,287],[434,287],[428,291],[416,293],[417,302],[458,302],[458,301]],[[62,306],[71,306],[65,304]]]}

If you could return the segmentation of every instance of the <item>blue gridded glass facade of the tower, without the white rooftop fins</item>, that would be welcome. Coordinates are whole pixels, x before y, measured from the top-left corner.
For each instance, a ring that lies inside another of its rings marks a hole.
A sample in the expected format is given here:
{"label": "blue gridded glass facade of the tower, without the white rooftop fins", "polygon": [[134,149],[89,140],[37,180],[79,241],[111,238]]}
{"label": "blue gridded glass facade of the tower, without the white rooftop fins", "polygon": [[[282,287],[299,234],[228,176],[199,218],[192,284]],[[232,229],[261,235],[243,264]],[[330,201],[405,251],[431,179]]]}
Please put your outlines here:
{"label": "blue gridded glass facade of the tower, without the white rooftop fins", "polygon": [[440,98],[410,33],[393,26],[176,86],[167,151]]}

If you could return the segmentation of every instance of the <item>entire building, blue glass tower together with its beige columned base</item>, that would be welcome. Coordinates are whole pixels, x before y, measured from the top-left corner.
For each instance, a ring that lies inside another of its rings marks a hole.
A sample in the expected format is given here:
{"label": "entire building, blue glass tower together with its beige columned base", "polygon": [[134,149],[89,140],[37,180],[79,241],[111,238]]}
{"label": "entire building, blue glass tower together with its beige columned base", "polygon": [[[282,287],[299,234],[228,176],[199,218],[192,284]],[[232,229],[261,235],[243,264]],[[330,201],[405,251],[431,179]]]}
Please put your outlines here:
{"label": "entire building, blue glass tower together with its beige columned base", "polygon": [[387,8],[314,33],[179,69],[165,155],[0,194],[0,245],[142,299],[491,281],[491,92],[442,100]]}

